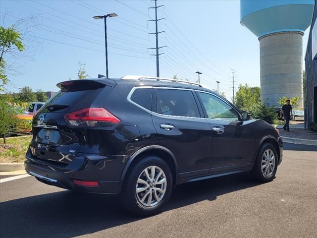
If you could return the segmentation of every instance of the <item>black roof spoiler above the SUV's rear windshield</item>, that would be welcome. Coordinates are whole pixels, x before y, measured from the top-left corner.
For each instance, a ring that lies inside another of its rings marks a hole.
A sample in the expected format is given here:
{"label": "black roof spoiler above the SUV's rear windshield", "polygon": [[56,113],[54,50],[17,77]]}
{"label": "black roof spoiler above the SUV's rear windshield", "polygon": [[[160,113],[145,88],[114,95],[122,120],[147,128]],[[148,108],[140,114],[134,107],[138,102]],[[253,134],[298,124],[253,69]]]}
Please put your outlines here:
{"label": "black roof spoiler above the SUV's rear windshield", "polygon": [[113,87],[115,81],[112,79],[77,79],[68,80],[64,82],[57,83],[56,86],[62,91],[81,91],[81,90],[92,90],[98,88],[104,88],[106,86]]}

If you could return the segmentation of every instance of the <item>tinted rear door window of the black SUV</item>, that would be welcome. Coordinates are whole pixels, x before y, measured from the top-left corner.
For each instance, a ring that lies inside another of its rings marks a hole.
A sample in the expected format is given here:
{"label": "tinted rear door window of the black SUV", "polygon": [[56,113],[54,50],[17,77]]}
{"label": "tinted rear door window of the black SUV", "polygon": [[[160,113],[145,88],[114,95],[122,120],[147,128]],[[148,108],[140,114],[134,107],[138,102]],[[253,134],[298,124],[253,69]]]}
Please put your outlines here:
{"label": "tinted rear door window of the black SUV", "polygon": [[158,89],[157,113],[162,115],[199,118],[192,91]]}

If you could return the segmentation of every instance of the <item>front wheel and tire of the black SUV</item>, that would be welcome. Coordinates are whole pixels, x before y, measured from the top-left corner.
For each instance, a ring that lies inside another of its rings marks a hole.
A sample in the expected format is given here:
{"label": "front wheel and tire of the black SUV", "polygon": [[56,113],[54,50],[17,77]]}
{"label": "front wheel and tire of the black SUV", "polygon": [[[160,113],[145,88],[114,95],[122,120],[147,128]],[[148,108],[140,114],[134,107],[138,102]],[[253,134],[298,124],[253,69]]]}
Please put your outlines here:
{"label": "front wheel and tire of the black SUV", "polygon": [[275,178],[278,157],[275,147],[264,143],[257,155],[252,174],[260,182],[269,182]]}

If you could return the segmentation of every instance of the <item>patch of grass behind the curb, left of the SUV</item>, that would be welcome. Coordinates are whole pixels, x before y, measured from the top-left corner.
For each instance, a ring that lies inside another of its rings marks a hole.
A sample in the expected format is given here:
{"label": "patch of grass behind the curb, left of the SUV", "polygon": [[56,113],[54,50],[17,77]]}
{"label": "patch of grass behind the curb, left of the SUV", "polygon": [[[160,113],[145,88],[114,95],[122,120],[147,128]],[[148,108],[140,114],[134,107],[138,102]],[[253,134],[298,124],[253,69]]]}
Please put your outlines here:
{"label": "patch of grass behind the curb, left of the SUV", "polygon": [[0,138],[0,163],[21,163],[25,160],[25,154],[29,147],[32,135]]}

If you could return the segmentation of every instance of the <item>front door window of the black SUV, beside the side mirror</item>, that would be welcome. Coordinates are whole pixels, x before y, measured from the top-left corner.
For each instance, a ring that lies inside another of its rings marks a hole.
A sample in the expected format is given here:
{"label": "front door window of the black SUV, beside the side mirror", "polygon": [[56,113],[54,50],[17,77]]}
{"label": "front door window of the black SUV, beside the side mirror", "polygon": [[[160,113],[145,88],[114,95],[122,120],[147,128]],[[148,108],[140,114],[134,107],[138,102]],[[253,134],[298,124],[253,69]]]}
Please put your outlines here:
{"label": "front door window of the black SUV, beside the side mirror", "polygon": [[238,120],[238,113],[218,97],[208,93],[198,93],[203,101],[208,118],[222,120]]}

